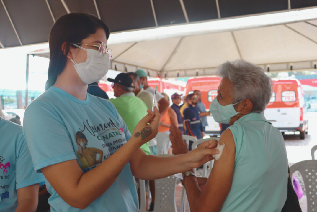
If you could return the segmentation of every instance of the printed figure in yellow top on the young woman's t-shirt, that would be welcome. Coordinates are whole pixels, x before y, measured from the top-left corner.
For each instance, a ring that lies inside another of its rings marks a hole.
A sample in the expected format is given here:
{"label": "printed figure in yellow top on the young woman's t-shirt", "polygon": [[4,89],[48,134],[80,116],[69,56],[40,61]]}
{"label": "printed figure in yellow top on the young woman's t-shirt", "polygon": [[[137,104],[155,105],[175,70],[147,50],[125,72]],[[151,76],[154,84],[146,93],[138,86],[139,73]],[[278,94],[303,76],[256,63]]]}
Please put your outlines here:
{"label": "printed figure in yellow top on the young woman's t-shirt", "polygon": [[[81,162],[82,169],[86,169],[88,167],[101,163],[103,156],[102,150],[95,147],[87,147],[88,140],[86,136],[80,131],[76,133],[75,138],[78,145],[77,157]],[[98,160],[96,160],[97,154],[99,154]]]}

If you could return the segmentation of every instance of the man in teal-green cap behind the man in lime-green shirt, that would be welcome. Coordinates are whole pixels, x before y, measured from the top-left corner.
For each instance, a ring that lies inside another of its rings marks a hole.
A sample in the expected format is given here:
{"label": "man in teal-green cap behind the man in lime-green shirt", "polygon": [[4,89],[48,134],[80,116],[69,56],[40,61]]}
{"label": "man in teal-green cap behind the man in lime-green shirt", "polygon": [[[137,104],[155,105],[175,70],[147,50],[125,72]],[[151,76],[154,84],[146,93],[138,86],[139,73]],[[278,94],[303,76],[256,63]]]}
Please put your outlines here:
{"label": "man in teal-green cap behind the man in lime-green shirt", "polygon": [[[147,83],[147,75],[142,70],[139,69],[135,73],[139,75],[140,78],[140,88],[143,88],[145,91],[150,92],[154,95],[155,90],[149,86]],[[160,115],[164,115],[165,111],[167,110],[168,106],[170,105],[168,101],[164,98],[164,96],[160,92],[156,92],[156,100],[159,104],[159,113]]]}

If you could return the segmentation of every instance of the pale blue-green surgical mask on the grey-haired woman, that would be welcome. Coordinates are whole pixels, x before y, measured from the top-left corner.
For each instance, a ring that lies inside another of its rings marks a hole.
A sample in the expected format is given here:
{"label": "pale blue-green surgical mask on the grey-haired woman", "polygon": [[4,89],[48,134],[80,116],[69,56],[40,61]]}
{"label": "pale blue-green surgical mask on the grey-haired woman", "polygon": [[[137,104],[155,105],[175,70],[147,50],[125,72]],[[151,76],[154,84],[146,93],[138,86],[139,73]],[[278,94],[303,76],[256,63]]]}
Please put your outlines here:
{"label": "pale blue-green surgical mask on the grey-haired woman", "polygon": [[[240,102],[237,102],[237,103],[240,103]],[[233,107],[237,103],[221,105],[219,104],[217,98],[214,98],[212,102],[210,103],[209,110],[212,117],[214,118],[216,122],[222,123],[222,124],[229,124],[230,118],[239,114],[238,112],[236,112],[235,108]]]}

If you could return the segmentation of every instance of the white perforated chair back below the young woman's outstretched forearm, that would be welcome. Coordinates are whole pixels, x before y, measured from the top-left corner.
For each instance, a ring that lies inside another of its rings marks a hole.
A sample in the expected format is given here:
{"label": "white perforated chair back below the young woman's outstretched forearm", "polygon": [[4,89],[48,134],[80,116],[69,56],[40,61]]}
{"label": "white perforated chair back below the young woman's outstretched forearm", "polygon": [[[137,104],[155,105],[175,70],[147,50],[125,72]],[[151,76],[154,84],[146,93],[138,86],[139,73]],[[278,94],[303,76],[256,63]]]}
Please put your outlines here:
{"label": "white perforated chair back below the young woman's outstretched forearm", "polygon": [[169,176],[155,180],[154,212],[177,212],[175,188],[177,178]]}

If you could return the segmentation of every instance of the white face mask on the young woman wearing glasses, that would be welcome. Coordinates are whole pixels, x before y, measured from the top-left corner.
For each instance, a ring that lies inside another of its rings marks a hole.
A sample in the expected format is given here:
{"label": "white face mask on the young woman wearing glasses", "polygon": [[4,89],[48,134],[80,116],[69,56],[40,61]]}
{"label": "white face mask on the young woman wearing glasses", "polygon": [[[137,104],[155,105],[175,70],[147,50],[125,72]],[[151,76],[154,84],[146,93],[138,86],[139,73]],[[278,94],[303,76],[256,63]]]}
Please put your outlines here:
{"label": "white face mask on the young woman wearing glasses", "polygon": [[75,64],[74,67],[78,76],[85,84],[96,82],[107,74],[110,68],[108,54],[99,57],[97,50],[86,49],[74,43],[73,45],[87,52],[87,59],[83,63],[76,63],[74,60],[70,59]]}

